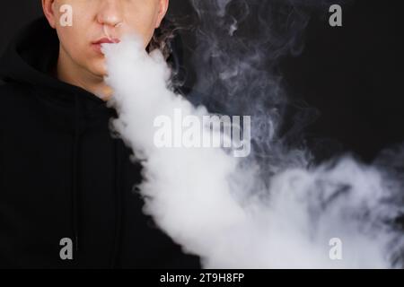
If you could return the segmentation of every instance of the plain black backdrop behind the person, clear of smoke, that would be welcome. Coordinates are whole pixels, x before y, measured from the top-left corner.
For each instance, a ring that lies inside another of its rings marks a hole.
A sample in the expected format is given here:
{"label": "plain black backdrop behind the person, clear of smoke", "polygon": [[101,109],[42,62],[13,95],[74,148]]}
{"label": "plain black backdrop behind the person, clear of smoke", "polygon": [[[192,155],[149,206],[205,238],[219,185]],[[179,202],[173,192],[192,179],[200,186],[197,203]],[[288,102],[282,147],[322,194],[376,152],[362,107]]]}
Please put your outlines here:
{"label": "plain black backdrop behind the person, clear of smoke", "polygon": [[[40,0],[1,5],[0,52],[17,30],[41,14]],[[319,111],[307,128],[309,138],[335,139],[340,152],[354,152],[364,161],[404,142],[400,8],[400,1],[357,0],[343,6],[343,27],[338,28],[329,26],[327,10],[312,18],[303,54],[287,57],[281,66],[288,92]],[[171,0],[171,13],[188,11],[186,0]],[[328,156],[329,145],[323,143]]]}

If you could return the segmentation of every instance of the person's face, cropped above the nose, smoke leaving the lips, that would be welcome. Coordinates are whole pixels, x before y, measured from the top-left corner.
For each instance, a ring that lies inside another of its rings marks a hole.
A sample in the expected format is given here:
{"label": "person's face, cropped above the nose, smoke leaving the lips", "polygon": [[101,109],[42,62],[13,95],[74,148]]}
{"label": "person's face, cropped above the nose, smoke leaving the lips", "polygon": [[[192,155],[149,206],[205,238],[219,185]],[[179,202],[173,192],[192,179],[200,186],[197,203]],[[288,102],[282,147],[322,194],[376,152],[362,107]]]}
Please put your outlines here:
{"label": "person's face, cropped above the nose, smoke leaving the lips", "polygon": [[[51,7],[48,10],[52,13],[46,11],[47,2]],[[146,48],[167,11],[168,2],[169,0],[42,0],[48,21],[57,30],[60,48],[75,65],[80,65],[97,76],[106,74],[100,42],[107,39],[118,41],[127,33],[136,33],[143,39]],[[66,25],[70,7],[71,26]]]}

